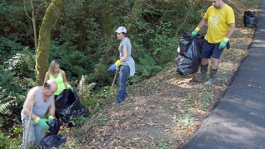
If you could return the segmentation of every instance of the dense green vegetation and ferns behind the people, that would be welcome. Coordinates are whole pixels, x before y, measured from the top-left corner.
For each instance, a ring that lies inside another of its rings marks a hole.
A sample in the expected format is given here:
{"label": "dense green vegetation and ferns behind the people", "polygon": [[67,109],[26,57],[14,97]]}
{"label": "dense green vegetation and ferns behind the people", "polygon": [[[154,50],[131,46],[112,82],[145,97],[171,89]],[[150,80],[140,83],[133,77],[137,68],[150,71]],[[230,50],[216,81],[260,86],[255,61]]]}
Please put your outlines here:
{"label": "dense green vegetation and ferns behind the people", "polygon": [[[33,2],[38,35],[51,0]],[[209,5],[207,0],[67,0],[51,33],[49,62],[60,62],[72,86],[80,85],[76,80],[82,75],[88,77],[81,81],[97,83],[95,92],[89,84],[87,94],[81,95],[84,104],[96,110],[114,76],[106,70],[118,58],[120,41],[114,33],[118,26],[127,27],[132,42],[137,72],[129,79],[132,84],[173,62],[179,36],[195,28]],[[1,148],[20,143],[20,112],[27,91],[35,85],[33,24],[25,11],[31,16],[30,4],[24,8],[23,1],[0,0]]]}

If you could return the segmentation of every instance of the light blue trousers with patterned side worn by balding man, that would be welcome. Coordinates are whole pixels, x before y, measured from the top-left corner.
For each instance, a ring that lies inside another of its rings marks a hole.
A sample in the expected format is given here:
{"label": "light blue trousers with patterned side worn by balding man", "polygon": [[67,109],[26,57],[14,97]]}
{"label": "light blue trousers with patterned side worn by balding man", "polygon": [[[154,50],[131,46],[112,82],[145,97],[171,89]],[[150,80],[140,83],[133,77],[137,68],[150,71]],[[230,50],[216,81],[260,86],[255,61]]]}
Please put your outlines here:
{"label": "light blue trousers with patterned side worn by balding man", "polygon": [[[29,117],[21,113],[22,127],[23,127],[23,139],[22,139],[22,148],[25,146],[26,133],[28,130]],[[40,140],[45,135],[45,129],[42,129],[38,123],[31,120],[30,122],[30,133],[27,143],[27,148],[31,148],[30,144],[33,143],[33,147],[40,147]]]}

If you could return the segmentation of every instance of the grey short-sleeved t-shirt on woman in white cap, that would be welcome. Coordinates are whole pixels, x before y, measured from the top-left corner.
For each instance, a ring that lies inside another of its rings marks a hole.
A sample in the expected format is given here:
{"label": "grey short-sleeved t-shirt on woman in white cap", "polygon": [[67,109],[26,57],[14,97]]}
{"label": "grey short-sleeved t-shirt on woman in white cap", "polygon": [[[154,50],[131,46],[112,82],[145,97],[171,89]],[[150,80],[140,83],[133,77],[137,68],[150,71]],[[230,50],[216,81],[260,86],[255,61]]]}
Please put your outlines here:
{"label": "grey short-sleeved t-shirt on woman in white cap", "polygon": [[120,59],[123,57],[122,46],[126,46],[126,48],[127,48],[127,59],[122,62],[122,65],[128,65],[125,62],[131,60],[131,53],[132,53],[132,45],[131,45],[129,38],[125,37],[120,43],[120,46],[119,46]]}

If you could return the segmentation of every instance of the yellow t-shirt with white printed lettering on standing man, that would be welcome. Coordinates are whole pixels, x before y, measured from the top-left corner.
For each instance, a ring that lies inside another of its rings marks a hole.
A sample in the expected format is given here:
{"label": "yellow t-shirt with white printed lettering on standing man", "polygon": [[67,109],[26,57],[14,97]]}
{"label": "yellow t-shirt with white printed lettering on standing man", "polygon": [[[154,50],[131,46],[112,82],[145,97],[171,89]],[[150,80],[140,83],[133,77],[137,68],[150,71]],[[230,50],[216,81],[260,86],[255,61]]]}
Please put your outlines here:
{"label": "yellow t-shirt with white printed lettering on standing man", "polygon": [[228,5],[221,9],[210,6],[203,18],[208,19],[208,30],[205,39],[209,43],[221,42],[230,29],[229,24],[235,23],[234,11]]}

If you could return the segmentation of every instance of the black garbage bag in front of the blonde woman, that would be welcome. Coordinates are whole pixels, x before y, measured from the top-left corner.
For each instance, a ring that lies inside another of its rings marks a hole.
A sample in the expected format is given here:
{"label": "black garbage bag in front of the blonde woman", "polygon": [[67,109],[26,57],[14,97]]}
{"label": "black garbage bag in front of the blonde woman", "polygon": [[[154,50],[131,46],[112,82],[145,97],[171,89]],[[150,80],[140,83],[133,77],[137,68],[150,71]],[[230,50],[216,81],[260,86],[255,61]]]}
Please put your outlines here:
{"label": "black garbage bag in front of the blonde woman", "polygon": [[90,114],[89,110],[80,103],[78,94],[70,89],[64,89],[57,96],[55,111],[64,123],[67,123],[70,117],[86,117]]}

